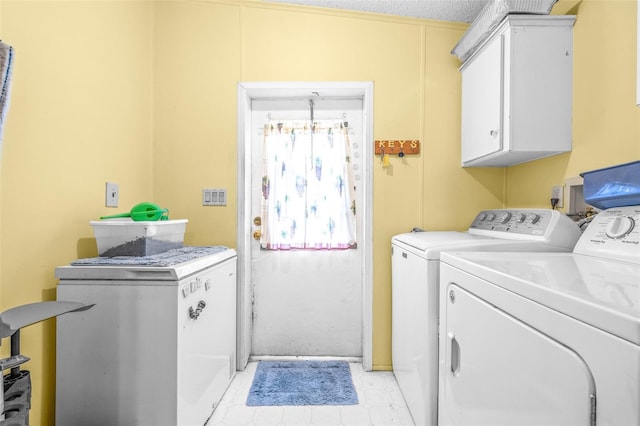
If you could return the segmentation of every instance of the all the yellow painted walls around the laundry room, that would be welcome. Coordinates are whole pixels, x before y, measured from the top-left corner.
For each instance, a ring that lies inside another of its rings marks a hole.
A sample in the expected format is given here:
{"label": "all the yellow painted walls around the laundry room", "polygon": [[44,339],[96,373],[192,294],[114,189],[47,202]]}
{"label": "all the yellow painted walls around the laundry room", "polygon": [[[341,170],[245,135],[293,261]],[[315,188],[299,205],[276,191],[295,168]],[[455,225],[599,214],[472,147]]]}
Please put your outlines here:
{"label": "all the yellow painted walls around the laundry room", "polygon": [[[375,139],[422,154],[374,161],[374,367],[391,366],[390,238],[464,229],[482,208],[547,207],[551,185],[638,159],[635,0],[576,4],[574,151],[462,169],[464,26],[252,0],[0,0],[16,48],[0,190],[0,309],[55,299],[55,266],[96,254],[104,182],[123,211],[149,199],[186,217],[188,244],[235,245],[239,81],[373,81]],[[615,25],[612,25],[615,23]],[[603,148],[604,146],[604,148]],[[201,189],[227,188],[227,207]],[[3,354],[7,344],[2,347]],[[29,327],[32,424],[53,424],[54,322]]]}

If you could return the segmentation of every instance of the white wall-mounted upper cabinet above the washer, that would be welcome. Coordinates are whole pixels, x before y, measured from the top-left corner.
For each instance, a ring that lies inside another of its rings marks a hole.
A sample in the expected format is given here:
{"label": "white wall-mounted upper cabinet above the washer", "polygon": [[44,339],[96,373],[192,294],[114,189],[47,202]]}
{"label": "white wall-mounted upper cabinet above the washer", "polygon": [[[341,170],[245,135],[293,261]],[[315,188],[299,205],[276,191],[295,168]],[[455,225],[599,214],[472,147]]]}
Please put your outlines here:
{"label": "white wall-mounted upper cabinet above the washer", "polygon": [[508,15],[462,66],[462,166],[571,151],[575,16]]}

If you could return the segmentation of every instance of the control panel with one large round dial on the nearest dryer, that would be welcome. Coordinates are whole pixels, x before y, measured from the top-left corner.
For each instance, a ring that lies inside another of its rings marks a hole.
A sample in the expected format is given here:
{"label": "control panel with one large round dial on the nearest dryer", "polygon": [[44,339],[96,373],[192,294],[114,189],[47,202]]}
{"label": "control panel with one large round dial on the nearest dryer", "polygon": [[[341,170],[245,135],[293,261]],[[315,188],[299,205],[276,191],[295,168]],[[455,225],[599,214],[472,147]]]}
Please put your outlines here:
{"label": "control panel with one large round dial on the nearest dryer", "polygon": [[640,264],[640,206],[613,207],[598,213],[574,253]]}

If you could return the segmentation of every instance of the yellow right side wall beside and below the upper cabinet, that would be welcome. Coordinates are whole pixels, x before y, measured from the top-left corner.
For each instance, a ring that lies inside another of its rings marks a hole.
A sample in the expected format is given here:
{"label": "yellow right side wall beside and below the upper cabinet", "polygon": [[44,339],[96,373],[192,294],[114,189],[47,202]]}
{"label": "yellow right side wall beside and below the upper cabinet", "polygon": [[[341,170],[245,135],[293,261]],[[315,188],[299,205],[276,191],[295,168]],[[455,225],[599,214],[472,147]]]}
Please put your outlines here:
{"label": "yellow right side wall beside and below the upper cabinet", "polygon": [[549,207],[551,187],[581,172],[640,159],[637,0],[583,0],[576,14],[573,149],[507,168],[510,207]]}

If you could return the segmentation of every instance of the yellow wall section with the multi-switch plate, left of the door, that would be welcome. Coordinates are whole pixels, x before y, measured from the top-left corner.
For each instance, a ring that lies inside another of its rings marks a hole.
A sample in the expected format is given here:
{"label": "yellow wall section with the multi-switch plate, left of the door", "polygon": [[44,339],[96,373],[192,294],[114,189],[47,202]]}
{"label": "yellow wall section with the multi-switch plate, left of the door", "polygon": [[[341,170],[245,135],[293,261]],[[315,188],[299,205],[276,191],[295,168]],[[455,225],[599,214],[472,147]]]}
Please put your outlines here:
{"label": "yellow wall section with the multi-switch plate, left of the door", "polygon": [[[240,11],[192,1],[155,6],[154,194],[172,217],[189,219],[192,245],[236,245]],[[202,207],[203,188],[226,188],[227,206]]]}

